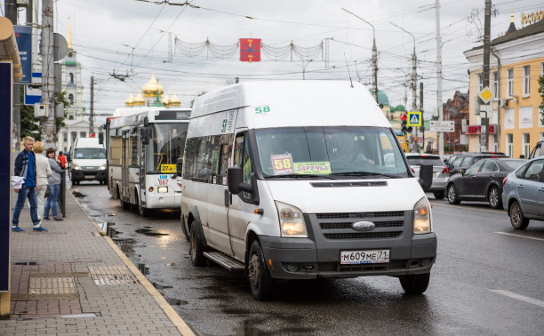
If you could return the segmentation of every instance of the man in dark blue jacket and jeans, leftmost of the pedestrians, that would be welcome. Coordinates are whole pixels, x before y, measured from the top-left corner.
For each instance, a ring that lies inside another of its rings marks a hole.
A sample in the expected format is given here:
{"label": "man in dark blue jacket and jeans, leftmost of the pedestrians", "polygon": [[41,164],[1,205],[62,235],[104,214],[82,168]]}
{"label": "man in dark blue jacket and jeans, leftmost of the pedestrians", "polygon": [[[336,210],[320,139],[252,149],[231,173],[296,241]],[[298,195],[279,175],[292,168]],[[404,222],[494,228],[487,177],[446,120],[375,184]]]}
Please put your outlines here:
{"label": "man in dark blue jacket and jeans, leftmost of the pedestrians", "polygon": [[42,228],[42,221],[37,217],[37,197],[36,192],[39,187],[36,186],[36,155],[32,151],[34,148],[34,138],[25,137],[23,140],[24,149],[15,158],[15,169],[13,173],[17,176],[25,178],[21,188],[15,188],[18,193],[17,203],[13,211],[12,231],[22,232],[24,229],[19,227],[19,216],[25,204],[25,199],[28,198],[30,203],[30,219],[32,220],[34,231],[47,231]]}

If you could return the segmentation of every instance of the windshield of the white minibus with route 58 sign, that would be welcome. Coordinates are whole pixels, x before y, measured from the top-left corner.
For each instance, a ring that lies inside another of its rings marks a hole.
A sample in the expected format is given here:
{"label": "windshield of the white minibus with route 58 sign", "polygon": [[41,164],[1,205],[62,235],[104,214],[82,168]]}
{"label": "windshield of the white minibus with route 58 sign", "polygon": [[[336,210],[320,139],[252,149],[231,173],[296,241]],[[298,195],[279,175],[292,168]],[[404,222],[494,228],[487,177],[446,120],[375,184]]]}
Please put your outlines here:
{"label": "windshield of the white minibus with route 58 sign", "polygon": [[255,131],[265,178],[287,175],[408,177],[388,128],[290,127]]}

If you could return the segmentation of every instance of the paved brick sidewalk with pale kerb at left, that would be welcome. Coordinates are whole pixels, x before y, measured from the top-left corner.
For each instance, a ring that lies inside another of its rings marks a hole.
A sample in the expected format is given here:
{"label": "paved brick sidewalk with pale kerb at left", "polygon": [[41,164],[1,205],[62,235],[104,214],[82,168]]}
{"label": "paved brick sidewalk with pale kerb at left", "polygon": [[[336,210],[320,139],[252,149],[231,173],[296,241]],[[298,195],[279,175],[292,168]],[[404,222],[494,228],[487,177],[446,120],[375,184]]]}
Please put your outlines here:
{"label": "paved brick sidewalk with pale kerb at left", "polygon": [[67,190],[66,219],[12,232],[12,301],[1,335],[194,333]]}

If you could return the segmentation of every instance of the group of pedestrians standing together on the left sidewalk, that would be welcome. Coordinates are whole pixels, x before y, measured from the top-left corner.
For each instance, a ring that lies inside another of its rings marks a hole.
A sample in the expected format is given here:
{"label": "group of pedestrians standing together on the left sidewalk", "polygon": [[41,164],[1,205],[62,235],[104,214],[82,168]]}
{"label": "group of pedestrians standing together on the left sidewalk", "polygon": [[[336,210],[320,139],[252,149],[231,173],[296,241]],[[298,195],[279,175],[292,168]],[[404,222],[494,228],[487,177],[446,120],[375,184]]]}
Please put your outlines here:
{"label": "group of pedestrians standing together on the left sidewalk", "polygon": [[[32,229],[34,231],[47,231],[46,228],[42,227],[42,222],[43,220],[50,220],[50,211],[53,220],[64,220],[57,210],[57,198],[60,191],[62,164],[66,164],[66,158],[61,154],[55,158],[54,148],[47,148],[46,156],[44,156],[44,144],[40,141],[36,141],[35,144],[32,137],[25,137],[23,146],[24,149],[15,159],[14,174],[23,177],[25,180],[21,188],[14,189],[18,196],[13,212],[12,231],[24,231],[19,227],[19,216],[26,199],[30,204]],[[64,158],[64,161],[62,158]],[[49,195],[45,199],[46,191]]]}

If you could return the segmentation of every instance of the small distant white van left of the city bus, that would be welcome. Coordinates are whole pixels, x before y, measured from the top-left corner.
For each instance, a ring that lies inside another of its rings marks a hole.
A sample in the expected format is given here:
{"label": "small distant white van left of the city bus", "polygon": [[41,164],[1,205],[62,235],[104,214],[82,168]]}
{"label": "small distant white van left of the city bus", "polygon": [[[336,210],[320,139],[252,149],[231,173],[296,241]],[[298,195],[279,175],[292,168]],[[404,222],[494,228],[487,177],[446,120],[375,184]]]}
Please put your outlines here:
{"label": "small distant white van left of the city bus", "polygon": [[97,138],[76,138],[68,156],[72,185],[82,180],[106,184],[106,149]]}

